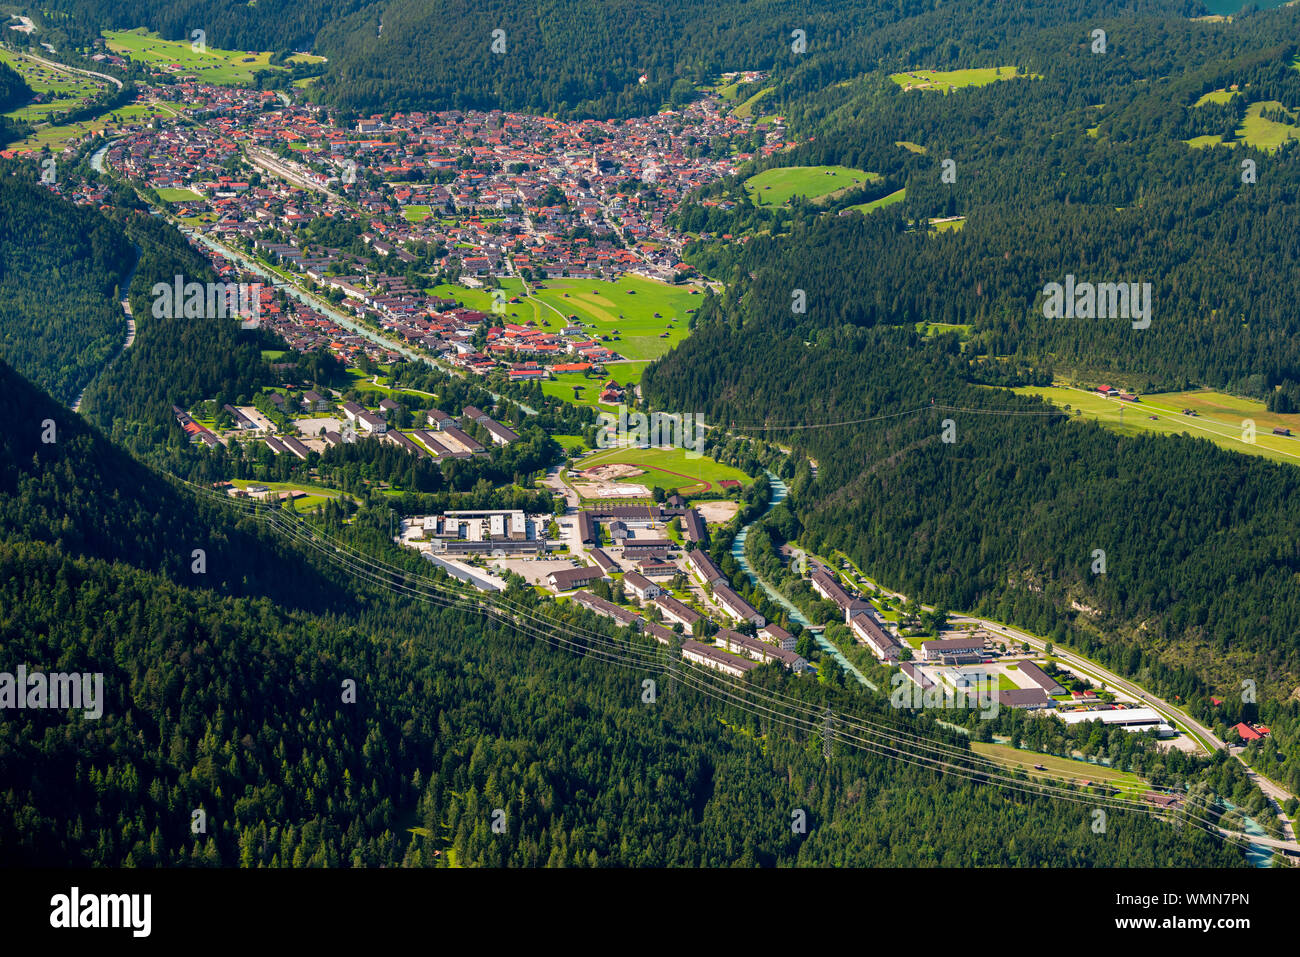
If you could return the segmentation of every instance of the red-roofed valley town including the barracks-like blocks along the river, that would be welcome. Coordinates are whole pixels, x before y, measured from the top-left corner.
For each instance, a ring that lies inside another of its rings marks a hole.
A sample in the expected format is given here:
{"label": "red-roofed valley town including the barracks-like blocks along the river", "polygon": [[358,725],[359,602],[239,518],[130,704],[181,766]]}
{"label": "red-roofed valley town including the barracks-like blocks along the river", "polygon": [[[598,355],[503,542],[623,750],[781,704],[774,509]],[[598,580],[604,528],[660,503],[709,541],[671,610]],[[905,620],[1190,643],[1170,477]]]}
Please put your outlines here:
{"label": "red-roofed valley town including the barracks-like blocks along the river", "polygon": [[[604,413],[636,406],[641,369],[688,334],[696,304],[714,291],[682,261],[685,243],[707,234],[676,233],[672,212],[699,187],[792,146],[780,117],[738,116],[714,92],[608,121],[502,111],[343,120],[281,92],[183,74],[142,85],[138,96],[155,112],[96,140],[92,165],[177,225],[222,281],[252,285],[252,308],[231,320],[283,343],[268,355],[283,372],[280,387],[173,406],[176,421],[211,450],[303,463],[320,484],[225,484],[230,495],[295,507],[334,494],[316,465],[342,445],[374,438],[455,468],[534,430],[528,395]],[[157,109],[178,103],[183,109]],[[103,183],[72,177],[49,189],[82,204],[108,198]],[[309,354],[332,356],[346,380],[304,380],[290,359]],[[488,408],[400,382],[396,365],[468,381]],[[549,389],[520,391],[534,384]],[[1139,402],[1110,386],[1096,391]],[[764,663],[816,674],[818,648],[867,683],[826,637],[831,625],[784,601],[781,620],[770,620],[758,596],[779,596],[748,566],[732,580],[711,557],[711,528],[731,523],[754,476],[707,459],[696,473],[676,458],[625,454],[681,451],[646,442],[610,450],[566,441],[564,450],[566,463],[545,476],[552,510],[448,508],[404,518],[395,540],[476,589],[502,592],[517,576],[733,677]],[[651,492],[651,482],[663,488]],[[1135,685],[1053,655],[1050,642],[979,619],[922,629],[901,596],[850,563],[807,559],[801,568],[835,607],[844,640],[916,700],[945,706],[989,690],[997,707],[1199,746]],[[1238,733],[1248,741],[1269,731]]]}

